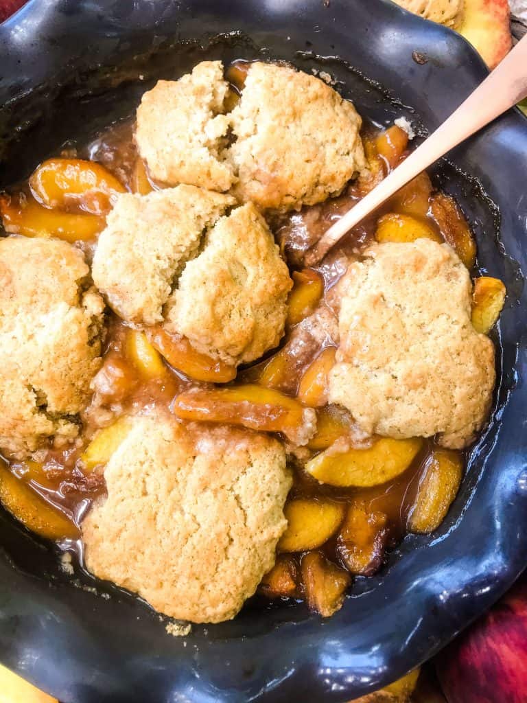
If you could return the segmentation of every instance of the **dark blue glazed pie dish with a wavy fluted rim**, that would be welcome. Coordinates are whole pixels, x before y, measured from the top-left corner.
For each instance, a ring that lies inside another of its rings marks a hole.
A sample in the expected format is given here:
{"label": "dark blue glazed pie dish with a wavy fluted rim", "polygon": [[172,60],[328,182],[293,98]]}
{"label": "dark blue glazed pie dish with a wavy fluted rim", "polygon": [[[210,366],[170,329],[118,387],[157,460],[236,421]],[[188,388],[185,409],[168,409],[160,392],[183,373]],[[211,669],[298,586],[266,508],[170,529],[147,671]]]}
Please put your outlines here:
{"label": "dark blue glazed pie dish with a wavy fluted rim", "polygon": [[[32,0],[0,27],[0,188],[130,114],[158,77],[256,56],[323,69],[363,115],[405,116],[421,134],[486,75],[462,38],[383,0]],[[408,535],[330,619],[249,603],[183,639],[138,598],[60,572],[53,546],[0,510],[1,662],[64,703],[344,702],[499,598],[527,566],[526,163],[527,120],[512,110],[436,169],[474,227],[480,271],[508,291],[493,417],[436,533]]]}

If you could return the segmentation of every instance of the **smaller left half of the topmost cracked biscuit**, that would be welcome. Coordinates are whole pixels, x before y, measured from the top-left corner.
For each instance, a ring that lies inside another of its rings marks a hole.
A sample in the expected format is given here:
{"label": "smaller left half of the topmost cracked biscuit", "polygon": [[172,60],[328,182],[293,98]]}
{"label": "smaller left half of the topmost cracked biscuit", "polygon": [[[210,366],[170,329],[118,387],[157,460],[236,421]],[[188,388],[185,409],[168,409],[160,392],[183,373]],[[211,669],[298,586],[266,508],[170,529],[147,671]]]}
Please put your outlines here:
{"label": "smaller left half of the topmost cracked biscuit", "polygon": [[228,131],[228,118],[221,114],[227,91],[221,61],[204,61],[178,81],[159,81],[143,95],[136,143],[155,179],[228,191],[234,176],[220,157]]}

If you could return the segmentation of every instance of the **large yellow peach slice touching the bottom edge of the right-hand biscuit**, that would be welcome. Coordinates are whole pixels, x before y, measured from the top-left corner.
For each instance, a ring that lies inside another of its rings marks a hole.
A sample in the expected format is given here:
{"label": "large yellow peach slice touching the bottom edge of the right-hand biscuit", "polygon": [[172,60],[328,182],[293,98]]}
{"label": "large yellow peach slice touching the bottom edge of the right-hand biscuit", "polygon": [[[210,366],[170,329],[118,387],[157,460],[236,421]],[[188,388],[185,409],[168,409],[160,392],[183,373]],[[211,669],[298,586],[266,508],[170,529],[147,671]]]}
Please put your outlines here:
{"label": "large yellow peach slice touching the bottom edge of the right-hand biscuit", "polygon": [[306,463],[306,471],[320,483],[367,488],[391,481],[408,469],[422,447],[422,439],[374,441],[367,449],[326,449]]}

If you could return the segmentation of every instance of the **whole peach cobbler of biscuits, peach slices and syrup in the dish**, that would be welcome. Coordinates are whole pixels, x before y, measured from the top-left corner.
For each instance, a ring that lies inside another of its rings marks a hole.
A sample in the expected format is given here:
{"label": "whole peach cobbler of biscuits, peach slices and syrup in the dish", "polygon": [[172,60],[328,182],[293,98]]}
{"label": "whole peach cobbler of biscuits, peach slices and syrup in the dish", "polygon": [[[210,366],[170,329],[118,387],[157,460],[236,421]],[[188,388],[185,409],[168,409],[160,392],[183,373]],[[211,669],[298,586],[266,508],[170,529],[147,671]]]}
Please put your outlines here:
{"label": "whole peach cobbler of biscuits, peach slices and syrup in the dish", "polygon": [[505,288],[427,174],[306,252],[408,132],[289,65],[203,62],[0,195],[0,499],[192,622],[327,617],[443,521]]}

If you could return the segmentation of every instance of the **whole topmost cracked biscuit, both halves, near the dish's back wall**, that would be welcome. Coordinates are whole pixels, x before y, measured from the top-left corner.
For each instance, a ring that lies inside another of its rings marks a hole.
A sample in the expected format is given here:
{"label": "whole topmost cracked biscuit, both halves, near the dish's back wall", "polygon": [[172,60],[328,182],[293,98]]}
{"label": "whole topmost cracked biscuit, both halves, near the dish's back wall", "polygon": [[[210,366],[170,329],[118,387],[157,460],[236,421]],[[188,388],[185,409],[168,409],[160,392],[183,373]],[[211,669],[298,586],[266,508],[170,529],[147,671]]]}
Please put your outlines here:
{"label": "whole topmost cracked biscuit, both halves, near the dish's back wall", "polygon": [[283,212],[337,195],[365,169],[360,117],[322,80],[256,62],[238,105],[219,114],[227,91],[216,61],[145,93],[136,142],[152,176]]}

